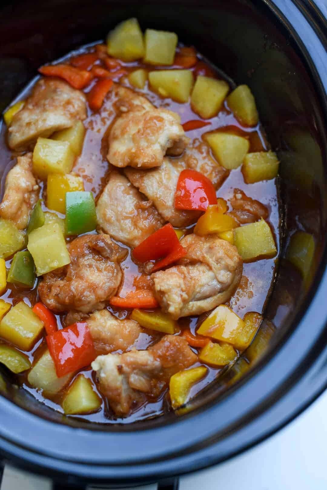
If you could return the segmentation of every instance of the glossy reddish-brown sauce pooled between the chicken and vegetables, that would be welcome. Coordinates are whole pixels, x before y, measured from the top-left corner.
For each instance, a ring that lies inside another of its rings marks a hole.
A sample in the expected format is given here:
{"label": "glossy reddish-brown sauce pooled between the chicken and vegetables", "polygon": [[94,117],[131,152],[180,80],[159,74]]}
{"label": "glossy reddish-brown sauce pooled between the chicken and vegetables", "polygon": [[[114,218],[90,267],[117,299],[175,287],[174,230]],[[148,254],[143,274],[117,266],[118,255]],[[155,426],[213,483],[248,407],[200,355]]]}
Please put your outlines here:
{"label": "glossy reddish-brown sauce pooled between the chicken and vegetables", "polygon": [[[79,51],[79,53],[82,52],[85,52],[85,49],[81,49]],[[76,52],[74,52],[74,54],[76,54]],[[67,59],[69,59],[70,56],[71,55],[68,55]],[[199,61],[194,70],[196,70],[196,72],[200,74],[206,74],[208,71],[212,71],[212,68],[209,68],[208,65],[206,65],[201,60],[201,55],[198,55],[198,57]],[[122,65],[127,71],[133,71],[136,67],[146,67],[149,70],[153,70],[152,66],[147,67],[146,65],[137,62],[122,63]],[[221,78],[220,73],[219,75],[217,75],[217,78]],[[129,85],[126,77],[123,77],[120,80],[120,83],[127,87],[133,88]],[[92,84],[85,90],[85,92],[88,92],[91,87]],[[19,99],[25,99],[29,91],[30,86],[25,89],[25,91],[20,95]],[[192,111],[189,103],[180,104],[174,102],[171,99],[163,99],[153,93],[149,89],[148,84],[146,85],[144,90],[137,90],[137,92],[149,98],[155,106],[162,106],[177,112],[181,117],[181,123],[185,123],[190,120],[200,119],[199,116]],[[83,151],[81,155],[77,158],[73,169],[73,172],[78,173],[83,178],[85,191],[91,191],[94,194],[95,198],[97,198],[101,194],[101,190],[105,186],[108,173],[110,172],[109,164],[105,158],[105,155],[107,153],[105,135],[108,131],[108,127],[110,127],[116,115],[114,109],[112,108],[112,102],[112,96],[109,95],[105,99],[100,112],[92,113],[90,110],[88,110],[88,117],[84,121],[84,126],[86,127],[86,135],[84,139]],[[218,116],[212,118],[209,121],[211,123],[210,125],[205,126],[201,129],[188,131],[186,133],[187,136],[192,139],[193,143],[195,142],[201,144],[201,136],[207,131],[222,129],[224,131],[228,130],[236,134],[248,136],[250,141],[250,151],[261,151],[269,149],[269,144],[266,141],[266,136],[261,125],[258,124],[258,126],[254,128],[242,127],[241,124],[238,123],[238,121],[234,118],[233,114],[230,113],[226,105],[224,109],[218,114]],[[5,169],[5,172],[1,179],[0,197],[2,198],[5,175],[15,164],[15,155],[9,151],[5,143],[4,124],[2,124],[0,132],[0,150],[0,167]],[[235,188],[243,190],[247,196],[250,196],[253,199],[257,199],[267,207],[269,211],[268,221],[274,231],[278,250],[279,215],[275,180],[263,181],[255,184],[246,184],[243,179],[241,168],[238,168],[236,170],[232,170],[229,173],[223,185],[217,191],[217,196],[223,197],[228,201],[230,198],[232,198]],[[41,189],[40,196],[45,198],[43,189]],[[44,210],[47,210],[44,203],[43,208]],[[229,210],[231,209],[232,208],[229,204]],[[51,210],[51,212],[53,211]],[[189,227],[188,232],[191,232],[192,228],[193,225]],[[126,247],[126,245],[123,246]],[[267,296],[269,295],[270,288],[274,281],[275,260],[276,258],[263,259],[250,264],[244,264],[243,277],[239,288],[228,303],[233,311],[240,317],[243,318],[245,313],[247,313],[248,311],[256,311],[258,313],[263,312],[265,301],[267,299]],[[6,266],[8,269],[10,268],[10,263],[11,260],[8,260],[6,262]],[[124,281],[121,285],[119,295],[124,297],[127,292],[133,289],[135,278],[140,276],[142,271],[140,271],[137,265],[131,260],[130,251],[126,260],[122,263],[122,269],[124,271]],[[7,302],[12,303],[13,305],[24,299],[29,306],[33,306],[38,300],[37,285],[35,285],[34,289],[30,291],[19,289],[15,286],[10,286],[7,288],[5,293],[2,294],[1,298],[5,299]],[[111,306],[108,306],[108,309],[120,319],[126,318],[131,312],[131,310],[123,310]],[[195,333],[197,326],[201,324],[208,313],[203,314],[200,317],[179,319],[178,325],[180,327],[180,330],[187,327],[191,329],[192,333]],[[63,317],[59,315],[57,315],[56,317],[60,328],[63,324]],[[150,344],[157,342],[162,337],[162,335],[163,334],[149,330],[148,334],[141,334],[137,346],[141,349],[147,348]],[[43,338],[34,345],[33,349],[30,352],[26,352],[26,354],[28,355],[30,361],[33,362],[33,360],[41,356],[45,348],[46,342]],[[197,349],[195,348],[193,348],[193,350],[195,352],[197,351]],[[204,380],[193,387],[191,393],[192,396],[201,391],[204,386],[214,380],[221,371],[222,369],[208,367],[207,376]],[[101,393],[97,390],[97,386],[95,383],[95,372],[93,372],[91,368],[83,369],[79,372],[83,372],[86,377],[93,379],[94,388],[101,396]],[[55,396],[52,396],[51,399],[49,399],[44,397],[40,391],[31,388],[28,385],[26,373],[17,375],[17,381],[18,384],[24,387],[35,398],[40,400],[40,402],[45,403],[49,407],[59,412],[63,412],[60,403],[65,390]],[[125,417],[124,419],[117,419],[117,417],[113,416],[110,408],[108,408],[107,402],[105,401],[105,399],[103,399],[102,396],[101,398],[101,410],[99,410],[97,413],[84,416],[78,415],[75,417],[80,417],[93,422],[117,423],[118,420],[120,423],[128,423],[143,418],[158,416],[170,410],[167,391],[163,392],[160,395],[159,399],[153,400],[151,399],[151,396],[149,396],[148,403],[146,403],[129,417]]]}

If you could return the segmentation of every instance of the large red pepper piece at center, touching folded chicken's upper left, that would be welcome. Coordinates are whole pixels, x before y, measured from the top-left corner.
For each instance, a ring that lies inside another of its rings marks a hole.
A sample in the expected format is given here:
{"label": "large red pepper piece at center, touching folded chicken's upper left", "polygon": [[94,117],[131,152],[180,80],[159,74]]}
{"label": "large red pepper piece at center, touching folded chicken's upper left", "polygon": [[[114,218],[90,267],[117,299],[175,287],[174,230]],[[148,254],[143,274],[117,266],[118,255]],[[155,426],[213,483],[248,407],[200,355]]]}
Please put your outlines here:
{"label": "large red pepper piece at center, touching folded chicken's upper left", "polygon": [[139,262],[148,262],[166,257],[177,245],[179,241],[175,230],[168,223],[137,245],[132,254]]}

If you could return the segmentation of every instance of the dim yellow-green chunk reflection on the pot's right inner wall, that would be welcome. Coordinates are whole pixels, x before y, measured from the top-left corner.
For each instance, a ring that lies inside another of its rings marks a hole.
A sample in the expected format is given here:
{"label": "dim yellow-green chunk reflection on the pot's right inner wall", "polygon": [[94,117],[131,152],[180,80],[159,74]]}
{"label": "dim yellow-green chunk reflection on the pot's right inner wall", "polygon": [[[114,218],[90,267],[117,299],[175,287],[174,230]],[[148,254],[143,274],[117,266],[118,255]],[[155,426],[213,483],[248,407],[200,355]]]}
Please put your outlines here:
{"label": "dim yellow-green chunk reflection on the pot's right inner wall", "polygon": [[[286,250],[286,259],[302,273],[304,282],[310,278],[310,270],[315,252],[313,236],[304,231],[297,231],[291,236]],[[306,284],[307,286],[307,284]]]}

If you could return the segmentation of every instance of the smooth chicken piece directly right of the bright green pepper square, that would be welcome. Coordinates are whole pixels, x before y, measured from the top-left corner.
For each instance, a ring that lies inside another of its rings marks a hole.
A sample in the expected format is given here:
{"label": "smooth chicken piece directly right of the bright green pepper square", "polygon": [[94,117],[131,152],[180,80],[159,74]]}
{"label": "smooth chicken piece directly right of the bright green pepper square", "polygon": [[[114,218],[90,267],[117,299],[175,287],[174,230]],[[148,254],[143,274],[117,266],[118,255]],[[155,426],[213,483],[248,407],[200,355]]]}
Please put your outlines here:
{"label": "smooth chicken piece directly right of the bright green pepper square", "polygon": [[126,177],[116,171],[110,174],[100,196],[97,216],[105,233],[131,247],[139,245],[163,224],[152,201],[144,200]]}

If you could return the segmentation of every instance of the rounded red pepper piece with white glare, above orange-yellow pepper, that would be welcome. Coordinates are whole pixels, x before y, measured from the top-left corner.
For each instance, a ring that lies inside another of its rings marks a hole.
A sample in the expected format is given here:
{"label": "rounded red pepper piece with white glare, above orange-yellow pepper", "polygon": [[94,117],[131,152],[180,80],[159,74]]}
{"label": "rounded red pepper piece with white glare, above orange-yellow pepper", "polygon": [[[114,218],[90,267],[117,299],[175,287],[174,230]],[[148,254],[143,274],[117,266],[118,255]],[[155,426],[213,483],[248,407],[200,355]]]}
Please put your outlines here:
{"label": "rounded red pepper piece with white glare, above orange-yellow pepper", "polygon": [[205,211],[209,204],[217,204],[217,197],[208,177],[196,170],[180,172],[175,194],[176,209]]}

